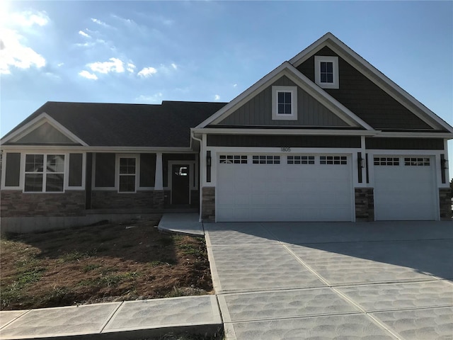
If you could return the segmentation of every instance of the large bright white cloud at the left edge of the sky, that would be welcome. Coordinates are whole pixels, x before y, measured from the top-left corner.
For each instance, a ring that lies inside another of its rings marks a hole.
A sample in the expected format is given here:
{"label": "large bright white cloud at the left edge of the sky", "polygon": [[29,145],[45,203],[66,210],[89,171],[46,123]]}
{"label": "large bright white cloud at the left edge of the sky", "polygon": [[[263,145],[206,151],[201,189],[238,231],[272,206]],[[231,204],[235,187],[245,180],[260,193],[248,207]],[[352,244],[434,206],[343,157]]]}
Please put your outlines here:
{"label": "large bright white cloud at the left edge of the sky", "polygon": [[11,74],[11,67],[29,69],[45,66],[45,58],[30,47],[21,43],[21,35],[13,30],[1,30],[0,33],[0,74]]}

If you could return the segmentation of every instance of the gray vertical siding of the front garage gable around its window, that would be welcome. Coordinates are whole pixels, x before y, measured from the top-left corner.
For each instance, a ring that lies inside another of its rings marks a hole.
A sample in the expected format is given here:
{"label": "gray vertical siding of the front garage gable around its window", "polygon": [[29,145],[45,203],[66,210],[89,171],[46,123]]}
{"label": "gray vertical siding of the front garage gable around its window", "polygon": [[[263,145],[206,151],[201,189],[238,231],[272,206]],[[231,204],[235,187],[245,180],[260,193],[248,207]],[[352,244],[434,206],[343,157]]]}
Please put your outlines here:
{"label": "gray vertical siding of the front garage gable around its window", "polygon": [[217,125],[349,126],[300,87],[297,88],[297,120],[273,120],[272,86],[296,86],[296,84],[288,77],[282,76]]}

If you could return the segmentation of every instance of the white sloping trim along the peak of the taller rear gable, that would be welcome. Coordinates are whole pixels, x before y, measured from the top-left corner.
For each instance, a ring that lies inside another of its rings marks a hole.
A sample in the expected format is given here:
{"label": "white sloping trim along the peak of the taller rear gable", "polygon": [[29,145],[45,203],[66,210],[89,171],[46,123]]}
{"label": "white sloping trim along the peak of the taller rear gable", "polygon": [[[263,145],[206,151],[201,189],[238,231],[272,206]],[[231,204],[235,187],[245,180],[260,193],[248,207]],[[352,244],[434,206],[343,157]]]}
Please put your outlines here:
{"label": "white sloping trim along the peak of the taller rear gable", "polygon": [[[406,92],[404,89],[398,86],[398,84],[396,84],[394,81],[389,79],[389,77],[386,77],[386,75],[380,72],[379,69],[377,69],[372,64],[367,62],[367,60],[358,55],[357,52],[348,47],[348,45],[345,45],[344,42],[336,38],[336,36],[333,35],[332,33],[326,33],[325,35],[323,35],[321,38],[316,40],[316,42],[314,42],[309,47],[300,52],[298,55],[289,60],[289,62],[294,67],[299,67],[299,65],[302,64],[302,62],[304,62],[305,60],[307,60],[312,53],[316,52],[317,50],[320,50],[324,45],[331,48],[331,50],[340,55],[340,57],[343,57],[343,59],[347,60],[354,67],[359,69],[360,72],[362,72],[362,74],[365,75],[365,77],[367,77],[374,84],[379,86],[380,89],[385,91],[386,94],[389,94],[389,96],[398,101],[398,103],[401,103],[401,105],[413,111],[412,108],[408,106],[408,104],[406,103],[406,101],[408,101],[413,106],[415,106],[415,108],[418,108],[418,110],[425,113],[425,115],[428,115],[428,118],[434,120],[435,123],[437,123],[438,125],[441,125],[442,128],[445,128],[449,132],[453,132],[453,127],[449,125],[447,122],[445,122],[445,120],[442,120],[442,118],[440,118],[429,108],[420,103],[420,101],[411,96],[411,94],[408,94],[408,92]],[[401,100],[401,97],[406,101]],[[436,126],[432,125],[432,121],[427,120],[426,117],[423,117],[423,115],[420,115],[416,111],[413,113],[417,115],[418,118],[423,120],[425,123],[430,125],[432,128],[437,128]]]}

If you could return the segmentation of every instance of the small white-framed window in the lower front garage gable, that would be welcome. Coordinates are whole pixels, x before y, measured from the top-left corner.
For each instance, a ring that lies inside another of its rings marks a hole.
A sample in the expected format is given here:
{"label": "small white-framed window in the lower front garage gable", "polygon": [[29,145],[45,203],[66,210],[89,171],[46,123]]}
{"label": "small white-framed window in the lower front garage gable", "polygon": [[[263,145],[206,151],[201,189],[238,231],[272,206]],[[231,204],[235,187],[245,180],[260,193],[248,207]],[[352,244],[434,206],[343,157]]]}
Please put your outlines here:
{"label": "small white-framed window in the lower front garage gable", "polygon": [[297,120],[297,86],[272,86],[272,119]]}

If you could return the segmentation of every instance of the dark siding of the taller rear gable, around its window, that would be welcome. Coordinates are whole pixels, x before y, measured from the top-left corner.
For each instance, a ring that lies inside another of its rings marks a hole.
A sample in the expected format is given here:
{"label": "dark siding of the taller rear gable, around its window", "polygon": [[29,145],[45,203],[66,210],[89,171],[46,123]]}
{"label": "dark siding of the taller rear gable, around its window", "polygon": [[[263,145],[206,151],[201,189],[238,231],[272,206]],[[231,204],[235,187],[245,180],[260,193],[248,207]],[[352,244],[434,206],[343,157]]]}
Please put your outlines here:
{"label": "dark siding of the taller rear gable, around its window", "polygon": [[[426,124],[386,94],[355,67],[336,55],[328,47],[315,53],[320,56],[338,57],[339,89],[324,89],[337,101],[358,115],[375,129],[430,129]],[[314,55],[297,67],[302,74],[314,81]]]}

